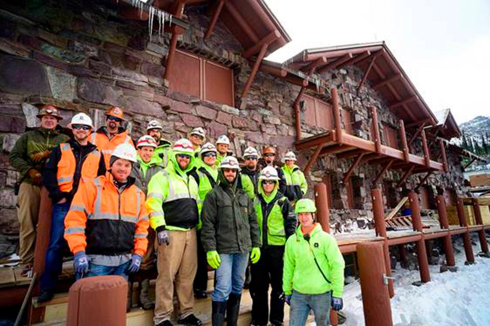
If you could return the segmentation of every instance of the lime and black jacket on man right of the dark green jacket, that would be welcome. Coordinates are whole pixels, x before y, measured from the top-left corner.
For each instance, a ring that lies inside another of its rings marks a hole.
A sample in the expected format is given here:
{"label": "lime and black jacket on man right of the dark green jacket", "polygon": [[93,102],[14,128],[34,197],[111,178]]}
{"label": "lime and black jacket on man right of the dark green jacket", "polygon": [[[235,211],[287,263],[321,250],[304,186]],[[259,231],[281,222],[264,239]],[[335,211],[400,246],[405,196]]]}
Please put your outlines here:
{"label": "lime and black jacket on man right of the dark green jacket", "polygon": [[262,188],[262,181],[259,181],[259,194],[255,197],[254,207],[262,246],[283,246],[287,238],[295,233],[296,215],[292,212],[289,200],[278,191],[278,188],[279,183],[276,183],[273,192],[266,196]]}

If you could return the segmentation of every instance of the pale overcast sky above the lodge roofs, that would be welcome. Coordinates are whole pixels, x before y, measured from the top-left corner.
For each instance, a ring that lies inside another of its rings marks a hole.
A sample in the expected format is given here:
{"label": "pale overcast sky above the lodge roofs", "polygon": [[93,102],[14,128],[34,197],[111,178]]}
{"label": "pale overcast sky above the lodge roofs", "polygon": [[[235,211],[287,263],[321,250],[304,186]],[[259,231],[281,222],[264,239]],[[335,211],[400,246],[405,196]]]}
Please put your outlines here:
{"label": "pale overcast sky above the lodge roofs", "polygon": [[432,111],[490,116],[490,0],[265,2],[292,39],[267,59],[385,41]]}

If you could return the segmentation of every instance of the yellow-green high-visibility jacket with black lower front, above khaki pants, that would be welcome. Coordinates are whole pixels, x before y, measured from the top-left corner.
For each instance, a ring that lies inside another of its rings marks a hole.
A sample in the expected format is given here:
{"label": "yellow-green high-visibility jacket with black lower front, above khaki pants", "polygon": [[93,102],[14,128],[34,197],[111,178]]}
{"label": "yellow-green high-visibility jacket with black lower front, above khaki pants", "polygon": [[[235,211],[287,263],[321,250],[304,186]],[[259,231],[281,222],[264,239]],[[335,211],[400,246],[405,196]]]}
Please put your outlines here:
{"label": "yellow-green high-visibility jacket with black lower front, above khaki pants", "polygon": [[148,184],[146,209],[150,214],[150,225],[157,230],[188,231],[198,224],[199,192],[194,178],[187,175],[193,168],[194,157],[182,171],[175,155],[169,158],[165,169],[155,174]]}

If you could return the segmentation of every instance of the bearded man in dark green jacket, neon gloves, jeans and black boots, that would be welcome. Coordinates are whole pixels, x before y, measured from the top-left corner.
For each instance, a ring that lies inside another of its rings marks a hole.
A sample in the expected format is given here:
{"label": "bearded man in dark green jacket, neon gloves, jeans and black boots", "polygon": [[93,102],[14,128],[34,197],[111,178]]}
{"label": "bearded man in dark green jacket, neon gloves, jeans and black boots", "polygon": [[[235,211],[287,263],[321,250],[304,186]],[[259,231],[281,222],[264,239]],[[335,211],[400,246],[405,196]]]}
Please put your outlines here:
{"label": "bearded man in dark green jacket, neon gloves, jeans and black boots", "polygon": [[218,185],[204,200],[202,240],[208,264],[216,269],[212,324],[236,326],[245,269],[260,259],[260,236],[252,199],[238,187],[238,161],[227,156],[219,165]]}

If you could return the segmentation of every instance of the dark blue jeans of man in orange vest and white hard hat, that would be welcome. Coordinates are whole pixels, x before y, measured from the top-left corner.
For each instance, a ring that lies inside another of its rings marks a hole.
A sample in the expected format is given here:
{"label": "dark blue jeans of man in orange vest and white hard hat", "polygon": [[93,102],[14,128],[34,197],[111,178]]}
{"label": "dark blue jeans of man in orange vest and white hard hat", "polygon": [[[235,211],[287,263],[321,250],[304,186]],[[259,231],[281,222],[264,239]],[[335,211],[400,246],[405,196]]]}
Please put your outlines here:
{"label": "dark blue jeans of man in orange vest and white hard hat", "polygon": [[65,216],[70,208],[69,203],[54,204],[51,218],[50,244],[46,251],[44,272],[39,280],[41,291],[53,291],[58,275],[63,267],[63,246],[65,239]]}

